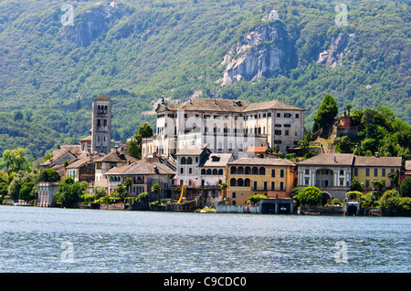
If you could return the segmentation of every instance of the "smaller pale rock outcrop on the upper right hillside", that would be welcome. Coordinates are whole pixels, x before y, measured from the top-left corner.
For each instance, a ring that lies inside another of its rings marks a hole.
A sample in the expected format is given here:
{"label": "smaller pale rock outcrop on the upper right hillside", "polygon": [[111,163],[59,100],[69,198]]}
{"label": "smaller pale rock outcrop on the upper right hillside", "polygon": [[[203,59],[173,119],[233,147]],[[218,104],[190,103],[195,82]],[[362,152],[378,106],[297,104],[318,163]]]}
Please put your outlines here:
{"label": "smaller pale rock outcrop on the upper right hillside", "polygon": [[342,57],[346,54],[354,34],[340,33],[332,38],[330,48],[320,53],[317,63],[325,64],[326,68],[336,68],[342,65]]}

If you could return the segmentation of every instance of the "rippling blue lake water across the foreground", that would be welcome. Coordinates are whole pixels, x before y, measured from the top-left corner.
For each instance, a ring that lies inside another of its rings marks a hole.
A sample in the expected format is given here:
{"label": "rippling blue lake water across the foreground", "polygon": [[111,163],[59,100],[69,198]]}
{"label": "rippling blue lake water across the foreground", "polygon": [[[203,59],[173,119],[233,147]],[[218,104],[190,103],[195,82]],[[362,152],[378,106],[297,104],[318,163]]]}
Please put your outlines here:
{"label": "rippling blue lake water across the foreground", "polygon": [[0,205],[0,272],[410,272],[411,218]]}

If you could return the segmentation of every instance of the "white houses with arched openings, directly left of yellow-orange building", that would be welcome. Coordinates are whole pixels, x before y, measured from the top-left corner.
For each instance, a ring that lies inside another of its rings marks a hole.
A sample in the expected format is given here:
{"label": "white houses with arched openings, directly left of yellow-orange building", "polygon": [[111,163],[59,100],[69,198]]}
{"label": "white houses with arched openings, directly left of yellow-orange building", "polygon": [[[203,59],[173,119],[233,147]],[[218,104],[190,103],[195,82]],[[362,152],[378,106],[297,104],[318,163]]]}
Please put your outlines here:
{"label": "white houses with arched openings, directly left of yellow-orange building", "polygon": [[176,154],[177,184],[219,189],[220,184],[226,182],[227,163],[233,160],[232,153],[212,153],[206,147],[181,149]]}

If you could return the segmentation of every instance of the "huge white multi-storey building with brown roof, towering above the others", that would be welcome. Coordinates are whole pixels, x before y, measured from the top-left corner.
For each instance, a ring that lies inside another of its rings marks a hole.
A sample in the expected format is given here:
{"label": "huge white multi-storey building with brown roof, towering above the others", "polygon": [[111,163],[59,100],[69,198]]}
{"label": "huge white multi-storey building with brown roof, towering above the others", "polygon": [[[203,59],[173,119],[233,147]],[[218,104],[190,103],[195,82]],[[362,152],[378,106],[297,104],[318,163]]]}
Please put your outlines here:
{"label": "huge white multi-storey building with brown roof, towering above the others", "polygon": [[142,140],[142,157],[154,151],[174,156],[187,147],[244,157],[250,147],[276,146],[287,152],[304,136],[304,111],[271,100],[251,103],[232,99],[189,99],[159,104],[155,136]]}

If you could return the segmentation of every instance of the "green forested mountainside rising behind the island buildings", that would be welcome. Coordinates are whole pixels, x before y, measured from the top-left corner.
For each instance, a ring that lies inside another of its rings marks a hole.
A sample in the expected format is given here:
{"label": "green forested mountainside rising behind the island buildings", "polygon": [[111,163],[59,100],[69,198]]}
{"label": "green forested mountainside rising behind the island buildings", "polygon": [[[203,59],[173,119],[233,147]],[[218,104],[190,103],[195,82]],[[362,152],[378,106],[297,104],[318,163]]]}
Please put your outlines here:
{"label": "green forested mountainside rising behind the island buildings", "polygon": [[[90,130],[90,101],[100,93],[113,99],[116,140],[153,121],[142,111],[162,95],[280,99],[307,109],[311,129],[315,110],[331,94],[340,112],[347,104],[382,105],[411,123],[409,2],[344,1],[347,26],[335,24],[339,3],[73,1],[71,26],[61,21],[67,12],[59,1],[3,1],[0,152],[19,146],[38,156],[55,143],[76,142]],[[262,21],[272,9],[279,20]],[[276,49],[287,58],[270,75],[222,86],[225,56],[270,25],[281,31]]]}

